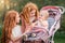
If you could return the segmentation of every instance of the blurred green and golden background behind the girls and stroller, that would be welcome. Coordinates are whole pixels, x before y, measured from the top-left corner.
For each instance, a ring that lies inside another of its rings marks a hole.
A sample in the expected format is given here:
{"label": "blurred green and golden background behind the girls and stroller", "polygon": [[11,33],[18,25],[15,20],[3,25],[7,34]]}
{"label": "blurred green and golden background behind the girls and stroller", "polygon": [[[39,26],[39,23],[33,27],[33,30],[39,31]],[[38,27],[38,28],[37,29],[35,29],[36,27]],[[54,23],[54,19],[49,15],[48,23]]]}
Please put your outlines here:
{"label": "blurred green and golden background behind the girls and stroller", "polygon": [[[15,10],[20,13],[27,2],[36,3],[39,10],[46,5],[57,5],[65,8],[65,0],[0,0],[0,38],[2,34],[5,12],[9,10]],[[65,42],[65,14],[62,15],[61,28],[55,33],[54,41],[55,43]]]}

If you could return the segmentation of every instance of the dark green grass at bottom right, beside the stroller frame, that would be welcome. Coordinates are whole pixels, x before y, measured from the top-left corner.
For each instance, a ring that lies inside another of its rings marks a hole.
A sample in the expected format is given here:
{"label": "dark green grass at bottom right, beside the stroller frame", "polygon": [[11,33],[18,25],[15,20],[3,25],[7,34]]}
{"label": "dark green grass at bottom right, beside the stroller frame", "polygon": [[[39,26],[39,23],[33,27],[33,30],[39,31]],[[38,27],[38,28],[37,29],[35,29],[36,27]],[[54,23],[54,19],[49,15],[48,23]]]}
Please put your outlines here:
{"label": "dark green grass at bottom right, beside the stroller frame", "polygon": [[54,41],[55,43],[65,43],[65,33],[56,32]]}

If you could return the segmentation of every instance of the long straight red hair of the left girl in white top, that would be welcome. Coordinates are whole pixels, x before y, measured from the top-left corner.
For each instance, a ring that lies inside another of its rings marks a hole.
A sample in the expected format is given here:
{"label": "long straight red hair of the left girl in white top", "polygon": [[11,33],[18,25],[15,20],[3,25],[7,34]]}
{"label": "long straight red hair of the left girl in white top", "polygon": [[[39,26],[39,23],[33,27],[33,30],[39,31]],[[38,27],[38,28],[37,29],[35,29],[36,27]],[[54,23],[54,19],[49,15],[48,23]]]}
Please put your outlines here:
{"label": "long straight red hair of the left girl in white top", "polygon": [[9,11],[5,14],[4,22],[3,22],[3,30],[2,30],[2,43],[9,43],[9,40],[12,34],[12,29],[16,25],[16,11]]}

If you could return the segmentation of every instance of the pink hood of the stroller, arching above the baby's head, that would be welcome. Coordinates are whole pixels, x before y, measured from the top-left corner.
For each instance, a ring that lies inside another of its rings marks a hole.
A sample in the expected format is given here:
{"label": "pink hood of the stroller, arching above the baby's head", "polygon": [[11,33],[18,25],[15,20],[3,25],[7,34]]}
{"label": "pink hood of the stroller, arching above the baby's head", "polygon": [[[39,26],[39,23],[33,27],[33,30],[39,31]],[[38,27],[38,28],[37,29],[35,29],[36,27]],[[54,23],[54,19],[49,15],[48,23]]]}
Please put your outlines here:
{"label": "pink hood of the stroller, arching above the baby's head", "polygon": [[62,8],[62,6],[53,6],[53,5],[43,6],[40,11],[43,11],[43,10],[53,11],[55,14],[63,14],[65,12],[64,8]]}

